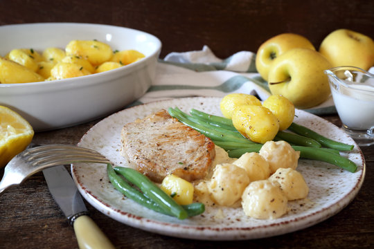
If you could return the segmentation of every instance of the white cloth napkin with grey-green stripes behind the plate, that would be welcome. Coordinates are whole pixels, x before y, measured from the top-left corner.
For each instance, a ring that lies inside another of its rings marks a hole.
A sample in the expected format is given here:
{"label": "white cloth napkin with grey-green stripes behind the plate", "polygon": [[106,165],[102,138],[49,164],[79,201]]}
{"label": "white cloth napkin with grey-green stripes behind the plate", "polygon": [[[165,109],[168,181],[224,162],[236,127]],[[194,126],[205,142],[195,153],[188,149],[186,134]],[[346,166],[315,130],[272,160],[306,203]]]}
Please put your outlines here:
{"label": "white cloth napkin with grey-green stripes behind the plate", "polygon": [[[208,46],[197,51],[170,53],[157,63],[150,89],[131,106],[172,98],[223,97],[229,93],[247,93],[266,100],[271,93],[256,71],[255,59],[256,54],[249,51],[220,59]],[[304,111],[317,115],[336,113],[332,98]]]}

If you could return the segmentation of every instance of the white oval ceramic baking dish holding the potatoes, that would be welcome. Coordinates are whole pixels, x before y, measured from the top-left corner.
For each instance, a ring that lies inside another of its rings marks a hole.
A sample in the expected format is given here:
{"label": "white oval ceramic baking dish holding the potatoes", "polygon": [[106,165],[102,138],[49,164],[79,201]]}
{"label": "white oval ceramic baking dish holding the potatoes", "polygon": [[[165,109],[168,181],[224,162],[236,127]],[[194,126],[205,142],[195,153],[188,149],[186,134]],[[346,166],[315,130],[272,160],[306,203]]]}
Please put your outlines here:
{"label": "white oval ceramic baking dish holding the potatoes", "polygon": [[74,39],[97,39],[113,50],[134,49],[145,57],[103,73],[64,80],[0,84],[0,105],[26,118],[35,131],[71,127],[107,116],[140,98],[156,73],[161,42],[154,35],[118,26],[39,23],[0,26],[0,56],[15,48],[64,49]]}

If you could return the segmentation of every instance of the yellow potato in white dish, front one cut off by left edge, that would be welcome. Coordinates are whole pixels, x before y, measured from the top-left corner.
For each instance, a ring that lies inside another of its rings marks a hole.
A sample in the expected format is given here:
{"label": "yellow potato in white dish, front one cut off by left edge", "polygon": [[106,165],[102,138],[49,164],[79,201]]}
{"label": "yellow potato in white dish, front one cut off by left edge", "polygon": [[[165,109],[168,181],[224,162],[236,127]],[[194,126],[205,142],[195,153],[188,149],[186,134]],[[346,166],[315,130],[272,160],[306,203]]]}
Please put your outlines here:
{"label": "yellow potato in white dish, front one cut off by left edge", "polygon": [[14,84],[41,81],[44,81],[42,75],[35,73],[35,71],[17,62],[0,57],[0,83]]}

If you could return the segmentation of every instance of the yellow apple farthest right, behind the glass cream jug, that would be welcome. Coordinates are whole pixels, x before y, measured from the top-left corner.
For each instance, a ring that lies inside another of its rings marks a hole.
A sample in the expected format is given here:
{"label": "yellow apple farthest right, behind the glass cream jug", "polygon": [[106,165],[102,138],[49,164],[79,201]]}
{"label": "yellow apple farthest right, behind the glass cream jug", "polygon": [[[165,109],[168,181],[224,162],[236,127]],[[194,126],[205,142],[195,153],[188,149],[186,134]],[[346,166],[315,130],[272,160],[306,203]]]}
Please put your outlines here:
{"label": "yellow apple farthest right, behind the glass cream jug", "polygon": [[370,37],[352,30],[335,30],[319,47],[332,66],[357,66],[368,70],[374,66],[374,41]]}

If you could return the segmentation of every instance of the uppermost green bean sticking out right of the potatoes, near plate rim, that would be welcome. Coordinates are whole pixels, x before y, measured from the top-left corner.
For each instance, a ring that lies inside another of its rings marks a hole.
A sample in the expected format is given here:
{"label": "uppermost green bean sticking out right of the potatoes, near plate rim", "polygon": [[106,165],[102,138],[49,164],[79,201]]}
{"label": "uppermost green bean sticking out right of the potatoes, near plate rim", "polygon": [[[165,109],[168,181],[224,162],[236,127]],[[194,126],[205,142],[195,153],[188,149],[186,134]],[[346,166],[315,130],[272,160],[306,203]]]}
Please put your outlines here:
{"label": "uppermost green bean sticking out right of the potatoes, near plate rim", "polygon": [[321,134],[312,131],[311,129],[308,129],[307,127],[303,127],[300,124],[292,123],[290,127],[288,127],[290,131],[293,131],[294,133],[297,133],[301,136],[305,136],[307,138],[312,138],[319,142],[323,147],[328,147],[331,149],[338,149],[340,151],[350,151],[353,149],[354,145],[347,145],[343,142],[337,142],[335,140],[331,140],[329,138],[326,138],[325,136],[322,136]]}

